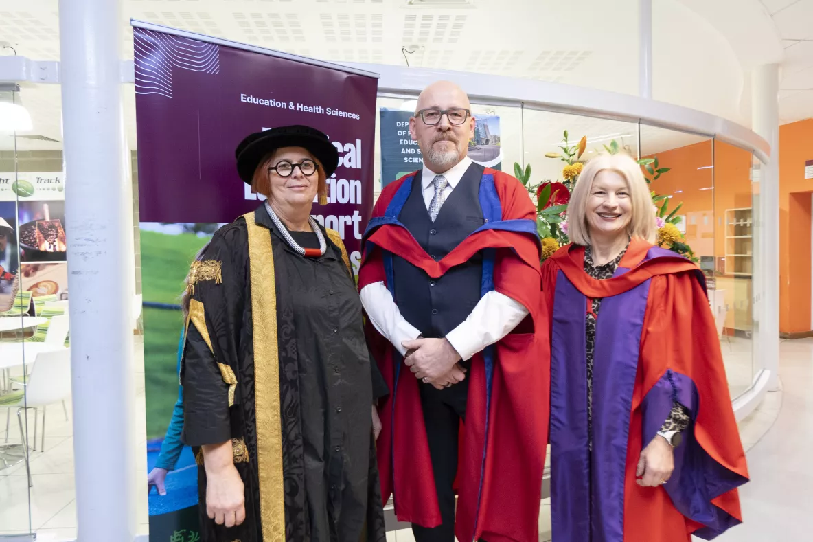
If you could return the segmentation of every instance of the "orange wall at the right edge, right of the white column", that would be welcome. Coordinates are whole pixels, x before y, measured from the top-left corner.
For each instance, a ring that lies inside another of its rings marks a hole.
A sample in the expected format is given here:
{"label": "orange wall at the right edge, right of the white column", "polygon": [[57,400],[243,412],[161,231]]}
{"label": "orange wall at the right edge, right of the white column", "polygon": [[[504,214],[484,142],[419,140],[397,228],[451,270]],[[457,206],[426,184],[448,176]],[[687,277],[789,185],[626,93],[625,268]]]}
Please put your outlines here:
{"label": "orange wall at the right edge, right of the white column", "polygon": [[779,129],[779,328],[811,330],[811,192],[805,161],[813,160],[813,120]]}

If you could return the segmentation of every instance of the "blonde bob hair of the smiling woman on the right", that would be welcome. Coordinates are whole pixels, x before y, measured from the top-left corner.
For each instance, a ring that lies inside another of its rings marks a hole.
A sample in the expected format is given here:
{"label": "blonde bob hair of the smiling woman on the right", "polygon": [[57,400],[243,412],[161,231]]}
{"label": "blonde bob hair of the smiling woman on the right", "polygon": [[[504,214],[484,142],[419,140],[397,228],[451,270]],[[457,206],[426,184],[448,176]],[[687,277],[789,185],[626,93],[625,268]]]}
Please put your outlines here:
{"label": "blonde bob hair of the smiling woman on the right", "polygon": [[589,160],[576,181],[570,203],[567,204],[567,237],[578,245],[590,244],[590,227],[587,223],[587,201],[593,181],[599,172],[609,170],[620,174],[627,181],[629,197],[632,203],[632,218],[627,233],[654,243],[655,215],[652,211],[652,197],[646,184],[641,166],[632,156],[619,153],[601,154]]}

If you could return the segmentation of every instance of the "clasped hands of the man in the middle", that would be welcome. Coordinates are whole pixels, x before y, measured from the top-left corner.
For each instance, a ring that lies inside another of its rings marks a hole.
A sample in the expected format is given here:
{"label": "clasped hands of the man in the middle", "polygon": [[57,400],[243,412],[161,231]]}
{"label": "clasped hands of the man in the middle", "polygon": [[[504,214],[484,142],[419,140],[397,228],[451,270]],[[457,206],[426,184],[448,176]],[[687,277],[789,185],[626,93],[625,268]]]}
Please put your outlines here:
{"label": "clasped hands of the man in the middle", "polygon": [[402,342],[408,352],[404,363],[415,378],[442,390],[463,382],[466,368],[459,364],[460,355],[446,339],[415,339]]}

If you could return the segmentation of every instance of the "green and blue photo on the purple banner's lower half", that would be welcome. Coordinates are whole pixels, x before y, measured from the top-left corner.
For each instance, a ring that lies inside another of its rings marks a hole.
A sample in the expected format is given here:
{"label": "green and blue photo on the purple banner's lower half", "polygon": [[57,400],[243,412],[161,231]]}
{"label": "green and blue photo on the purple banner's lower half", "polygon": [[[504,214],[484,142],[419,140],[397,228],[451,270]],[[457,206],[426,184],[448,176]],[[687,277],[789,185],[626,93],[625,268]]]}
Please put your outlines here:
{"label": "green and blue photo on the purple banner's lower half", "polygon": [[[141,222],[141,283],[144,299],[147,472],[167,468],[166,495],[150,491],[150,515],[198,503],[198,470],[192,450],[180,443],[180,423],[170,427],[180,400],[179,347],[184,331],[180,295],[189,265],[220,224]],[[180,411],[182,413],[182,411]],[[177,423],[180,422],[180,423]],[[167,439],[167,442],[164,442]],[[163,446],[163,454],[162,454]]]}

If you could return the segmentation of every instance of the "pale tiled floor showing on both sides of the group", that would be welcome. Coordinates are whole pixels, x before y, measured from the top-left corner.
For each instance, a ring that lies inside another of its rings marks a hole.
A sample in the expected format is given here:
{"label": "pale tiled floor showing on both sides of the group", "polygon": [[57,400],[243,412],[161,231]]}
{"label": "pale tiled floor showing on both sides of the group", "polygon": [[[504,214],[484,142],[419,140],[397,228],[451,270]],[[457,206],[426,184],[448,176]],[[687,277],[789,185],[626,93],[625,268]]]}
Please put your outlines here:
{"label": "pale tiled floor showing on both sides of the group", "polygon": [[[743,391],[751,382],[750,340],[724,339],[723,352],[729,384],[734,394]],[[134,365],[136,374],[137,401],[136,415],[138,434],[137,445],[137,479],[146,479],[146,435],[144,423],[144,374],[140,341],[136,344]],[[760,408],[749,418],[741,422],[740,432],[750,452],[751,474],[756,482],[746,486],[742,492],[746,521],[751,527],[740,527],[728,535],[726,542],[750,542],[750,540],[809,540],[808,537],[793,538],[780,536],[775,532],[770,535],[752,537],[753,531],[764,532],[776,527],[770,510],[778,510],[777,517],[785,518],[793,525],[806,525],[802,530],[788,532],[801,533],[813,531],[811,519],[803,519],[805,510],[813,509],[811,497],[813,479],[809,472],[804,472],[803,458],[809,456],[813,448],[813,395],[806,391],[813,389],[813,340],[794,341],[782,345],[782,375],[789,396],[785,399],[785,409],[779,422],[767,435],[769,438],[759,441],[770,428],[779,413],[781,394],[769,394]],[[68,404],[70,411],[70,404]],[[5,412],[0,409],[0,420],[5,422]],[[12,413],[13,418],[13,413]],[[33,413],[29,414],[29,424],[33,424]],[[20,442],[19,430],[12,419],[9,442]],[[802,428],[806,427],[806,430]],[[0,444],[5,438],[5,423],[0,423]],[[759,442],[759,444],[758,444]],[[756,445],[756,446],[754,446]],[[39,442],[37,443],[39,447]],[[37,540],[46,542],[76,539],[76,501],[73,480],[73,442],[72,423],[66,422],[62,409],[54,405],[48,410],[46,447],[43,452],[37,449],[31,459],[31,470],[34,486],[30,492],[31,525],[37,531]],[[780,452],[787,454],[781,456]],[[789,487],[798,487],[798,492],[789,491]],[[138,495],[138,533],[148,532],[146,507],[146,483],[137,483]],[[768,499],[771,496],[771,499]],[[804,499],[807,500],[804,500]],[[781,507],[778,503],[785,503]],[[18,465],[7,470],[0,470],[0,535],[22,534],[28,527],[29,496],[25,476],[25,466]],[[804,518],[808,518],[804,516]],[[783,523],[789,525],[789,523]],[[801,529],[801,527],[800,527]],[[742,536],[742,537],[740,537]],[[390,532],[390,542],[412,542],[410,530]],[[540,515],[540,541],[550,540],[550,503],[543,501]]]}

